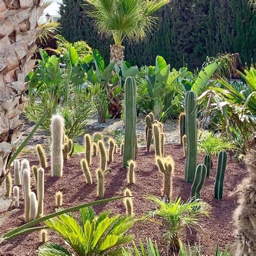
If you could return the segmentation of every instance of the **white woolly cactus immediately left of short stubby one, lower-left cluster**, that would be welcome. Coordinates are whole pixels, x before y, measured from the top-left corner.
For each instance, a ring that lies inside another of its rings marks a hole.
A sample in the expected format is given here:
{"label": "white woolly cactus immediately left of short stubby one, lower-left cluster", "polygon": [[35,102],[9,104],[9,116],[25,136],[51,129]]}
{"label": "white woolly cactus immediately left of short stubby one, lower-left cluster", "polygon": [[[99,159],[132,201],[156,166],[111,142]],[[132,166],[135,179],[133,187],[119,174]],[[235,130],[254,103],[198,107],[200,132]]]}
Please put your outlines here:
{"label": "white woolly cactus immediately left of short stubby one, lower-left cluster", "polygon": [[30,209],[30,171],[24,169],[22,173],[22,186],[23,186],[23,195],[25,201],[25,222],[30,221],[29,209]]}

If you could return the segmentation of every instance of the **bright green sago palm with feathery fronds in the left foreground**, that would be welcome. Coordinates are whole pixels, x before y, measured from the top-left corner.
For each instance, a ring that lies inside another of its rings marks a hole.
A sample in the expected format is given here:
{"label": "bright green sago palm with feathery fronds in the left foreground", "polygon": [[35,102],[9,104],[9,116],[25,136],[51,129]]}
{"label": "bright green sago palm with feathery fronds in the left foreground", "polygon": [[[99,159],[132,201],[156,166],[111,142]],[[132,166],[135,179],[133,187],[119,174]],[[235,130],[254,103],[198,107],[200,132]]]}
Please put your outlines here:
{"label": "bright green sago palm with feathery fronds in the left foreground", "polygon": [[[134,224],[132,215],[110,217],[106,211],[96,216],[87,207],[80,209],[79,215],[80,221],[71,213],[45,221],[78,255],[122,255],[121,246],[133,240],[133,235],[126,234]],[[49,242],[38,248],[38,255],[72,255],[72,251]]]}

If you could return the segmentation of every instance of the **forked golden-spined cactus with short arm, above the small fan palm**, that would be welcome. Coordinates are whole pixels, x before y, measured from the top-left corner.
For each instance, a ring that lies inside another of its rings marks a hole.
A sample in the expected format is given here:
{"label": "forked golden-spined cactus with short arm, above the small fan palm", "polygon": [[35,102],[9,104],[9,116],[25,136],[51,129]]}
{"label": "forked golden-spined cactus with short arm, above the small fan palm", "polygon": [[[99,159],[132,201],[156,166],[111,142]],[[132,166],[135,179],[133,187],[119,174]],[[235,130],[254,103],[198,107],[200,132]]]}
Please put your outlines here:
{"label": "forked golden-spined cactus with short arm, above the small fan palm", "polygon": [[172,157],[157,157],[156,162],[160,172],[164,173],[164,195],[169,200],[172,196],[172,174],[174,172],[174,161]]}

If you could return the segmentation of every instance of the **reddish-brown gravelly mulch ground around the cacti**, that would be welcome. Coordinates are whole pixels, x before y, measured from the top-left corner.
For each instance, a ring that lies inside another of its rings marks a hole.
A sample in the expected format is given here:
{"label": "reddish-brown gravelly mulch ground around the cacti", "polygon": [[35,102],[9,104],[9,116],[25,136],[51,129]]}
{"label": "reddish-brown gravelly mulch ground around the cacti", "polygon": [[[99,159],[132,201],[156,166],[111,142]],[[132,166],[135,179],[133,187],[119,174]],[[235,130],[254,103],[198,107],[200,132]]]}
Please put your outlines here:
{"label": "reddish-brown gravelly mulch ground around the cacti", "polygon": [[[173,198],[181,197],[187,200],[190,197],[191,184],[186,184],[184,181],[185,159],[183,157],[183,149],[178,144],[166,145],[165,155],[170,154],[176,164],[173,177]],[[93,185],[85,183],[85,177],[80,168],[80,160],[83,154],[73,157],[66,161],[64,165],[63,177],[52,178],[50,174],[50,167],[45,172],[45,198],[44,198],[44,214],[49,214],[55,211],[55,193],[57,191],[63,192],[63,207],[88,203],[97,200],[96,197],[96,174],[95,170],[99,166],[99,158],[93,157],[91,172]],[[29,159],[31,165],[38,164],[38,160],[34,157]],[[203,163],[203,156],[199,156],[199,163]],[[228,158],[227,170],[225,176],[224,198],[216,200],[213,198],[213,186],[216,174],[217,158],[213,159],[213,168],[210,178],[207,178],[205,185],[201,191],[201,197],[212,207],[211,218],[205,218],[203,226],[207,228],[209,234],[209,241],[205,234],[199,234],[196,231],[184,231],[183,240],[190,241],[190,244],[199,242],[203,246],[203,253],[207,255],[214,255],[217,242],[220,247],[225,247],[227,243],[234,245],[234,226],[232,215],[237,207],[237,198],[231,195],[235,191],[237,185],[246,175],[246,170],[240,164],[234,163],[231,157]],[[119,154],[114,154],[114,162],[109,165],[112,173],[105,176],[105,198],[113,196],[120,196],[125,187],[130,187],[134,196],[133,205],[134,213],[137,217],[141,217],[147,211],[152,210],[154,205],[143,198],[145,194],[153,194],[161,196],[161,187],[163,177],[158,171],[154,163],[154,153],[146,153],[145,149],[139,150],[136,167],[136,184],[127,185],[126,170],[122,168],[122,157]],[[35,186],[32,180],[32,189]],[[21,209],[18,213],[12,215],[1,227],[1,232],[9,228],[18,227],[24,224],[24,200],[22,193],[20,193]],[[109,204],[100,205],[96,207],[96,211],[111,210],[113,213],[125,214],[125,207],[123,201],[114,201]],[[166,246],[163,245],[163,234],[161,228],[156,224],[139,222],[131,230],[135,234],[138,241],[139,238],[143,240],[150,237],[156,240],[160,249],[160,255],[167,255]],[[57,235],[50,233],[50,241],[62,243],[62,239]],[[23,235],[22,237],[13,239],[9,242],[4,242],[0,245],[1,255],[36,255],[38,246],[41,245],[39,241],[39,232]],[[169,255],[170,252],[169,252]]]}

